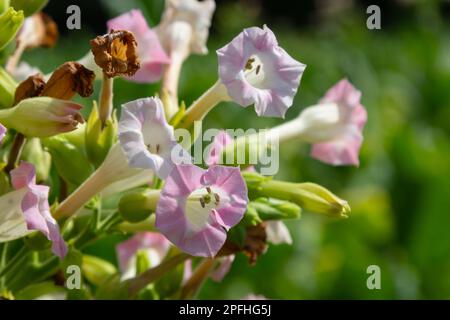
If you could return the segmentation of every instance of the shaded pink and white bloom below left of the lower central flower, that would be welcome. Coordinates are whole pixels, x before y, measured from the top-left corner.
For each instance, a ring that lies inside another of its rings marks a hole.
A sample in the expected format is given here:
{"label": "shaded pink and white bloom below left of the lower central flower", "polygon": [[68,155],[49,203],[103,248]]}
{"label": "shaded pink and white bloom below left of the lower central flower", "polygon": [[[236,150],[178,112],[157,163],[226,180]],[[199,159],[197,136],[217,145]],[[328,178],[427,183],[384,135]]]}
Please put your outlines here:
{"label": "shaded pink and white bloom below left of the lower central flower", "polygon": [[145,252],[149,267],[153,268],[161,263],[170,248],[170,242],[157,232],[136,233],[130,239],[121,242],[116,247],[119,268],[122,279],[136,276],[136,254]]}

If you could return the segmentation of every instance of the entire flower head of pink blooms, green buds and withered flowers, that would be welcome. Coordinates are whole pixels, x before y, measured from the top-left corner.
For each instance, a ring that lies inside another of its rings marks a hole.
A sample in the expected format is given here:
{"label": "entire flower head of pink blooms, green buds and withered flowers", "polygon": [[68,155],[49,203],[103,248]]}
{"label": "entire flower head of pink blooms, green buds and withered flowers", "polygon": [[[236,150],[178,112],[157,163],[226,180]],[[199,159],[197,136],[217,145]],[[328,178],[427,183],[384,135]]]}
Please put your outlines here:
{"label": "entire flower head of pink blooms, green buds and withered flowers", "polygon": [[[254,106],[259,117],[284,118],[306,68],[269,27],[247,28],[217,50],[218,79],[211,88],[188,108],[179,107],[182,65],[191,53],[208,53],[214,10],[213,0],[166,0],[154,28],[139,10],[124,13],[90,41],[83,59],[64,63],[48,80],[30,71],[35,69],[28,68],[26,77],[17,71],[23,50],[54,45],[54,22],[42,13],[24,22],[14,9],[0,16],[0,30],[8,30],[0,49],[13,39],[17,44],[0,68],[0,138],[8,136],[2,148],[9,152],[4,175],[6,189],[14,189],[0,197],[0,245],[23,239],[25,253],[47,250],[30,244],[37,237],[33,230],[40,231],[53,253],[65,258],[61,266],[87,242],[120,231],[130,239],[117,245],[118,268],[97,257],[77,258],[98,287],[96,298],[191,298],[205,279],[221,281],[235,255],[255,264],[270,245],[292,244],[284,221],[299,219],[302,211],[349,216],[347,201],[318,184],[274,179],[248,163],[222,164],[239,145],[253,152],[255,137],[234,139],[222,131],[202,166],[194,163],[177,130],[192,134],[194,123],[222,101]],[[161,93],[116,106],[116,77],[161,81]],[[101,90],[83,124],[83,105],[71,99],[91,96],[95,79]],[[341,80],[317,105],[267,130],[265,138],[310,143],[312,157],[331,165],[359,165],[367,120],[360,99],[361,92]],[[32,151],[22,152],[25,137],[33,138],[25,145]],[[36,179],[33,165],[40,168],[43,161],[36,159],[44,156],[56,169],[56,181],[48,168]],[[23,157],[28,162],[17,167]],[[57,199],[52,206],[45,184]],[[4,275],[11,270],[1,268],[17,266],[0,266],[0,284],[9,289]],[[45,274],[57,272],[58,267]],[[23,289],[32,276],[14,282],[14,289]]]}

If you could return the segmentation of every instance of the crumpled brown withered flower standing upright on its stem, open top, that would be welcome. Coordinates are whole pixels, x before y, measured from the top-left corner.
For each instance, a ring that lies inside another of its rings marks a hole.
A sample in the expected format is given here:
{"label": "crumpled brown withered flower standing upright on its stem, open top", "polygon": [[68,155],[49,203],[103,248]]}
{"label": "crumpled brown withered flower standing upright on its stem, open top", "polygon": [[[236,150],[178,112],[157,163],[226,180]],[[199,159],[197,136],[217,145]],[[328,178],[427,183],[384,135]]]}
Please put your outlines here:
{"label": "crumpled brown withered flower standing upright on its stem, open top", "polygon": [[108,78],[133,76],[140,68],[137,42],[129,31],[111,30],[98,36],[91,40],[91,49],[95,63]]}

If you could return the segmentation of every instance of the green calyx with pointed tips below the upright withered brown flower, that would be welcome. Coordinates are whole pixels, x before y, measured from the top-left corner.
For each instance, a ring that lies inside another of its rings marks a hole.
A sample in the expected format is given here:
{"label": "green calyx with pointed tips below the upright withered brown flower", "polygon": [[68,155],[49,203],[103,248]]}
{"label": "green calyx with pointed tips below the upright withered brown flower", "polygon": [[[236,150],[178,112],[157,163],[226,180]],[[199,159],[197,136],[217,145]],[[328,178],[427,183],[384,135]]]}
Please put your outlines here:
{"label": "green calyx with pointed tips below the upright withered brown flower", "polygon": [[99,167],[105,160],[109,149],[117,140],[117,117],[106,120],[105,126],[99,118],[97,104],[94,101],[91,114],[86,125],[86,151],[89,160],[95,167]]}

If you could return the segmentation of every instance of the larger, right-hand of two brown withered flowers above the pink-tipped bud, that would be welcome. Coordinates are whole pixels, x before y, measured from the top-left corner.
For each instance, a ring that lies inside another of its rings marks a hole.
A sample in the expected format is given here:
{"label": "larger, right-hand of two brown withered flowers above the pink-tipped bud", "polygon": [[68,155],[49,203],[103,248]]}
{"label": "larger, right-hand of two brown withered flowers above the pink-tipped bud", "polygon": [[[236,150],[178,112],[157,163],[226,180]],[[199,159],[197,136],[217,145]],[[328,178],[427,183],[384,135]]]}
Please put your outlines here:
{"label": "larger, right-hand of two brown withered flowers above the pink-tipped bud", "polygon": [[42,96],[70,100],[78,93],[89,97],[95,74],[78,62],[66,62],[56,69],[42,91]]}

